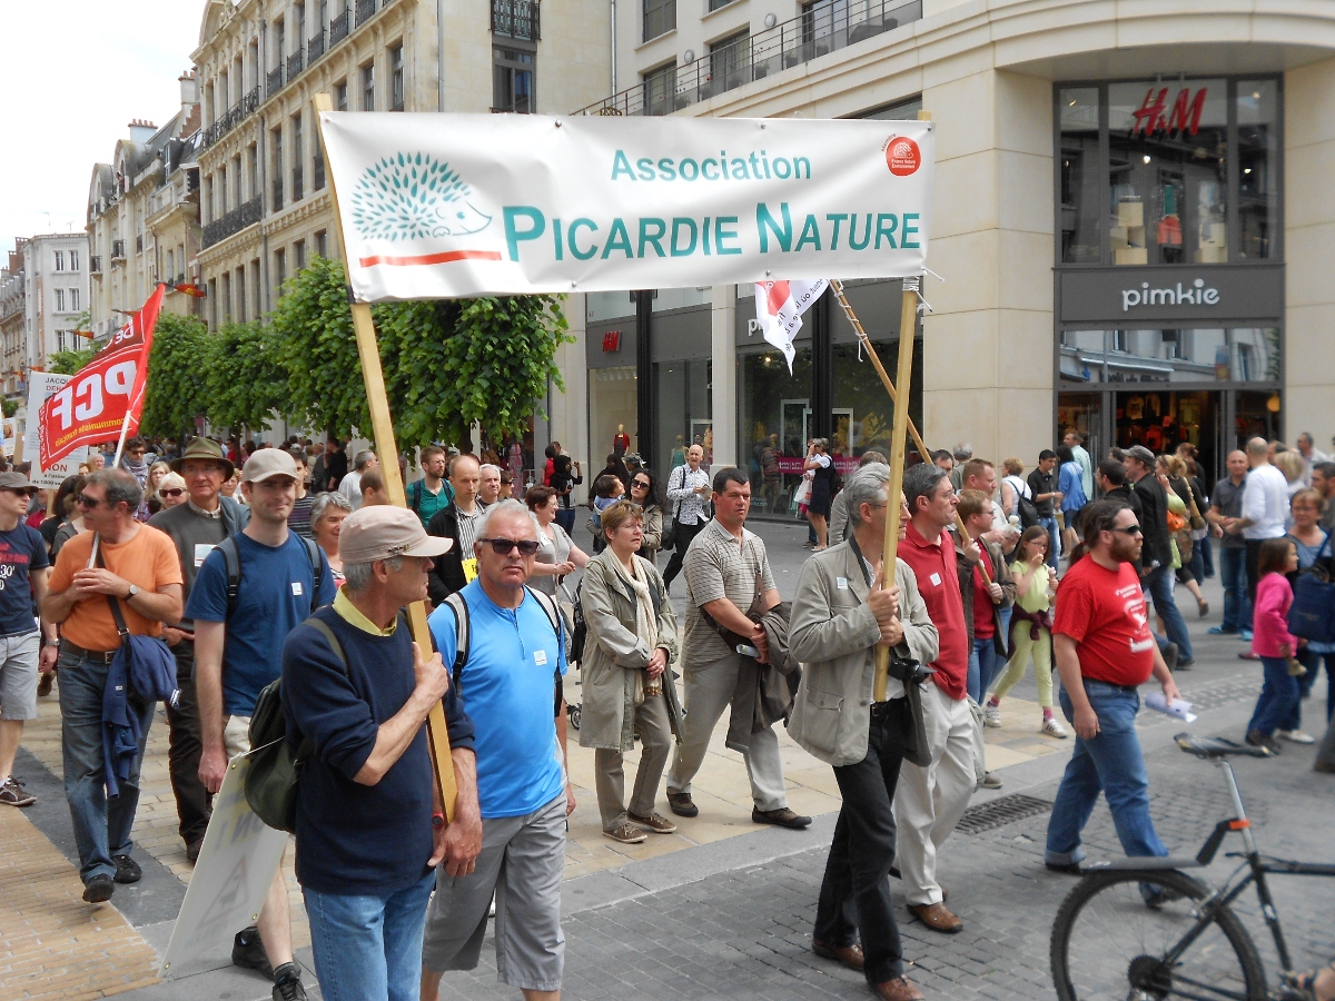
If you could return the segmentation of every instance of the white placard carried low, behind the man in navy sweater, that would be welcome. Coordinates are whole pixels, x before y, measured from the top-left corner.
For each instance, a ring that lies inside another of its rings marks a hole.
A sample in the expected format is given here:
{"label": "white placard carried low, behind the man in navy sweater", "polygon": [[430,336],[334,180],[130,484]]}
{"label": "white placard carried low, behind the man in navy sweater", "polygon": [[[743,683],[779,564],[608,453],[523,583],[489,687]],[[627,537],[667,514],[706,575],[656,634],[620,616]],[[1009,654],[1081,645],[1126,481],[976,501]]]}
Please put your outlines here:
{"label": "white placard carried low, behind the man in navy sweater", "polygon": [[274,873],[283,861],[287,834],[266,826],[246,802],[250,765],[248,754],[232,758],[223,787],[214,797],[214,814],[159,977],[172,973],[172,965],[176,977],[184,976],[192,969],[192,960],[230,946],[234,934],[259,920]]}

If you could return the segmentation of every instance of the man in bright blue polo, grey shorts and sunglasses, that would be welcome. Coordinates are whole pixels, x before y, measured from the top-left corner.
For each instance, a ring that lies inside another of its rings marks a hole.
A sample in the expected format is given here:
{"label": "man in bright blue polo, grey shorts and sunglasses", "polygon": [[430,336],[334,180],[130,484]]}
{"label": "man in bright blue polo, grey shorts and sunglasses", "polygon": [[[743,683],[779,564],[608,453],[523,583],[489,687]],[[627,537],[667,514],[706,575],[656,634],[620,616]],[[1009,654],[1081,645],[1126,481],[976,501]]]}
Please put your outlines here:
{"label": "man in bright blue polo, grey shorts and sunglasses", "polygon": [[[422,942],[422,997],[437,997],[443,972],[478,965],[493,894],[498,980],[529,1001],[561,996],[569,779],[553,681],[565,674],[566,657],[551,606],[525,586],[537,551],[537,525],[523,505],[499,500],[487,509],[474,543],[478,577],[459,591],[469,641],[458,697],[474,725],[479,815],[461,798],[451,825],[481,825],[482,853],[471,874],[437,877]],[[430,625],[453,665],[458,634],[449,601]]]}

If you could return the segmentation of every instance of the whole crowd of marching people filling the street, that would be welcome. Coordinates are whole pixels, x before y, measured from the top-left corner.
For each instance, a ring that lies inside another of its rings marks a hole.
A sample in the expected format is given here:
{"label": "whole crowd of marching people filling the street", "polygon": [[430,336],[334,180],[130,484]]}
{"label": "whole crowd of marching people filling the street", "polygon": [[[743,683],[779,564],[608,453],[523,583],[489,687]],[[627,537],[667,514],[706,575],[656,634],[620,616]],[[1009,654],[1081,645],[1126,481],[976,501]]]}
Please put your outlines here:
{"label": "whole crowd of marching people filling the street", "polygon": [[[939,861],[975,790],[1001,786],[981,727],[1001,726],[1031,663],[1037,729],[1075,731],[1045,846],[1059,873],[1080,872],[1100,794],[1128,856],[1167,854],[1135,718],[1140,685],[1153,677],[1177,698],[1173,675],[1195,659],[1177,583],[1206,617],[1199,585],[1218,566],[1226,599],[1211,633],[1247,641],[1239,655],[1263,670],[1250,743],[1278,753],[1278,741],[1315,739],[1302,701],[1323,658],[1327,717],[1335,703],[1335,642],[1300,635],[1290,614],[1307,607],[1304,575],[1335,570],[1335,463],[1310,436],[1295,450],[1248,442],[1214,490],[1189,446],[1096,462],[1069,431],[1028,476],[1019,458],[999,476],[960,446],[910,464],[898,498],[884,455],[840,476],[813,439],[813,554],[792,602],[746,525],[753,472],[710,470],[700,444],[663,479],[633,452],[610,455],[590,482],[591,553],[573,538],[583,472],[559,443],[521,498],[522,470],[451,451],[421,450],[406,509],[390,505],[374,451],[350,462],[334,439],[195,438],[179,452],[131,439],[119,466],[96,451],[61,484],[52,517],[25,470],[0,472],[0,805],[35,801],[12,765],[55,681],[85,901],[142,877],[131,827],[156,701],[194,861],[227,761],[251,749],[256,701],[282,678],[288,741],[314,749],[296,876],[324,996],[434,998],[443,973],[477,966],[494,914],[501,981],[558,997],[575,809],[565,678],[578,665],[578,741],[594,751],[614,842],[677,830],[657,811],[659,785],[668,813],[700,814],[692,782],[725,710],[756,823],[810,825],[788,805],[777,725],[833,767],[842,806],[812,948],[860,970],[877,997],[912,1001],[922,993],[905,977],[886,876],[928,929],[964,928]],[[434,649],[410,635],[415,601],[431,610]],[[117,686],[129,694],[108,729],[104,695]],[[442,699],[458,787],[449,823],[423,731]],[[1335,770],[1331,743],[1323,770]],[[1149,906],[1157,892],[1147,888]],[[280,874],[232,960],[272,980],[275,998],[306,996]]]}

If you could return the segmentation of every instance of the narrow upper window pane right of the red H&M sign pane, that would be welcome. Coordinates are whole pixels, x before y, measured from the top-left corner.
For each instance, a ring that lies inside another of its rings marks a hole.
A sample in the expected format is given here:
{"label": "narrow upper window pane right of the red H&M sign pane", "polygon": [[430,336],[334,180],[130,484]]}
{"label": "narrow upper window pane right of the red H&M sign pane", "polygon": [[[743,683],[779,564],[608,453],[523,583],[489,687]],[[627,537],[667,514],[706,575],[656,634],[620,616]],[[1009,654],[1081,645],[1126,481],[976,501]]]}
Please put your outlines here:
{"label": "narrow upper window pane right of the red H&M sign pane", "polygon": [[1238,81],[1239,255],[1276,256],[1279,227],[1279,87],[1274,80]]}

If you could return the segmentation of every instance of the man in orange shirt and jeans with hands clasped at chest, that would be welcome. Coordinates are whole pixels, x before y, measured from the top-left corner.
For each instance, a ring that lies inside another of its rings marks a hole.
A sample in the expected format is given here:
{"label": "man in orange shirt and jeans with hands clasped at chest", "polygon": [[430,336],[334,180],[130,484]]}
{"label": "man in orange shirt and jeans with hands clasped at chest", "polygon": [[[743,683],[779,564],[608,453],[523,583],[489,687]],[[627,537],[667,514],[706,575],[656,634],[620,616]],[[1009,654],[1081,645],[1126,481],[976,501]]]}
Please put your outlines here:
{"label": "man in orange shirt and jeans with hands clasped at chest", "polygon": [[[79,848],[83,898],[111,900],[116,882],[138,882],[139,865],[129,857],[129,829],[139,805],[139,766],[154,721],[154,703],[134,695],[139,714],[139,754],[129,778],[107,801],[101,743],[101,701],[107,670],[120,647],[111,605],[117,602],[134,635],[160,635],[164,622],[182,614],[182,574],[171,538],[135,521],[143,491],[124,470],[99,470],[76,498],[84,525],[92,531],[67,542],[56,558],[43,617],[60,623],[60,739],[64,753],[65,797]],[[97,539],[96,566],[89,566]],[[113,882],[115,881],[115,882]]]}

